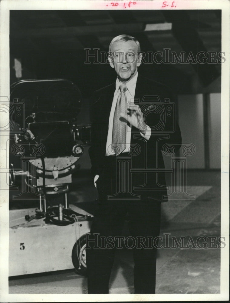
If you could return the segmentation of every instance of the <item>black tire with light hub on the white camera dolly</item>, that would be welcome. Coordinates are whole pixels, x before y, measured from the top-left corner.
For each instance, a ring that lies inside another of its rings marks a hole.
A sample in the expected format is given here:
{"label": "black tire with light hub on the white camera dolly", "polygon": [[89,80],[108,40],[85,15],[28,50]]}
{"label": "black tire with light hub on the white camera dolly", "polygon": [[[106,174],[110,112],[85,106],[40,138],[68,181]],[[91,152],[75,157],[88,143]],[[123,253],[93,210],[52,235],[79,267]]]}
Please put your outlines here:
{"label": "black tire with light hub on the white camera dolly", "polygon": [[[77,242],[74,244],[72,250],[72,262],[75,268],[75,271],[83,276],[87,276],[87,266],[86,266],[86,236],[83,235],[80,237]],[[80,262],[79,262],[80,260]]]}

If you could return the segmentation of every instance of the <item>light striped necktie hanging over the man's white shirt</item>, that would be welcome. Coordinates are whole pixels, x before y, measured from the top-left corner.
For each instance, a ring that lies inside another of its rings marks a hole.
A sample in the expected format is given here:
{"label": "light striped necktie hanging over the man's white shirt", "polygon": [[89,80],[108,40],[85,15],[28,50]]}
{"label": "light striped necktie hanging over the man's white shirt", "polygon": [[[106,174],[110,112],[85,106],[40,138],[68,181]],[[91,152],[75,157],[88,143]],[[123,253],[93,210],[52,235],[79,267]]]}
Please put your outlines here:
{"label": "light striped necktie hanging over the man's white shirt", "polygon": [[117,99],[117,105],[113,117],[113,136],[112,136],[112,150],[116,155],[119,155],[126,147],[126,127],[127,122],[120,116],[120,113],[123,112],[127,114],[127,98],[126,91],[127,86],[121,84],[120,94]]}

